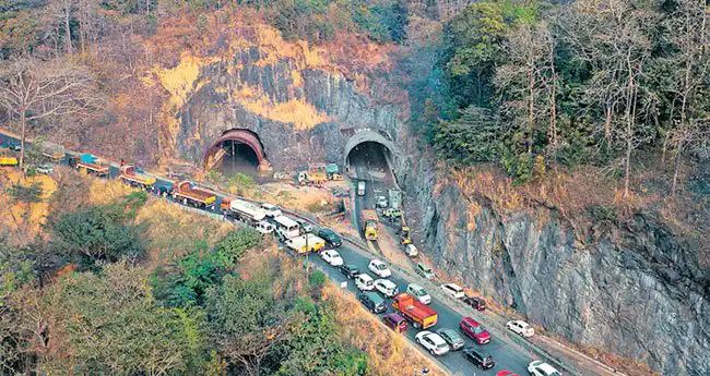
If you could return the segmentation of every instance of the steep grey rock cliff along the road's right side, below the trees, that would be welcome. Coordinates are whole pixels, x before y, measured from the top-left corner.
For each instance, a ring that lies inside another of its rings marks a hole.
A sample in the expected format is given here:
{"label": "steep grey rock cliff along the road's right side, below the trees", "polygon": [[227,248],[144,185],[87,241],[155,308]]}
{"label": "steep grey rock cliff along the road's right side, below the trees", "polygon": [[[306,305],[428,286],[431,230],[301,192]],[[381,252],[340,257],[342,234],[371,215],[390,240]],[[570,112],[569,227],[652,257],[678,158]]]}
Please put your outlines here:
{"label": "steep grey rock cliff along the road's right side, below the trees", "polygon": [[710,272],[697,243],[649,213],[580,234],[555,208],[500,210],[423,159],[400,167],[399,178],[440,269],[572,342],[666,375],[710,374]]}

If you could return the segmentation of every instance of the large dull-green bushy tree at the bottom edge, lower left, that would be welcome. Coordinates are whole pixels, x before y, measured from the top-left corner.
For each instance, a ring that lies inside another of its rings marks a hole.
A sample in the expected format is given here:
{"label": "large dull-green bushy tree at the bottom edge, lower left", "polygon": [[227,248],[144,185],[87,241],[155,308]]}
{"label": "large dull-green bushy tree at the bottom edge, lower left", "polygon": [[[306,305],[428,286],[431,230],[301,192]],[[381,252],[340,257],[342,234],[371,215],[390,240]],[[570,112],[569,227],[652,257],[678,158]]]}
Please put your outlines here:
{"label": "large dull-green bushy tree at the bottom edge, lower left", "polygon": [[118,263],[102,275],[73,275],[47,299],[52,332],[64,335],[57,339],[63,351],[42,365],[44,373],[200,373],[188,368],[203,356],[200,315],[158,306],[141,268]]}

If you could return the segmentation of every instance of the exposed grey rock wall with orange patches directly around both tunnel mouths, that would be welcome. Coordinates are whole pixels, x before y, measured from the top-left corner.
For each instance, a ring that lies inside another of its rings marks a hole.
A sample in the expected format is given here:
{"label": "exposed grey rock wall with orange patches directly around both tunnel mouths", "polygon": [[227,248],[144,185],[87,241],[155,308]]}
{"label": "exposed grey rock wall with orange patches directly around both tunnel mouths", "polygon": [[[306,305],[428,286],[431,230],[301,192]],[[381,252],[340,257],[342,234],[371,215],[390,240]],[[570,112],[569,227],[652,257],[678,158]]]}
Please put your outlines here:
{"label": "exposed grey rock wall with orange patches directly around both tunnel mouths", "polygon": [[177,113],[178,157],[199,165],[211,143],[235,128],[256,132],[279,170],[342,162],[345,143],[358,130],[394,141],[400,128],[394,105],[374,105],[340,73],[299,69],[293,58],[263,60],[255,47],[201,69]]}

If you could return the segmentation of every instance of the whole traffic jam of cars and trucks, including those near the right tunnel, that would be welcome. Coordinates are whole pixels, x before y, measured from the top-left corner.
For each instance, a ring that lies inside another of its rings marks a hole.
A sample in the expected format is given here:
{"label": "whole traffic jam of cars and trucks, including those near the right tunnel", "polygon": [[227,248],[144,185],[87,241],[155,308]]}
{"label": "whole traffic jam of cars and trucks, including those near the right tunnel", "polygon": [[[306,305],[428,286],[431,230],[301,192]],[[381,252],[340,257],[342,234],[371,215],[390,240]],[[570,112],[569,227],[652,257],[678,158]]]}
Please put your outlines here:
{"label": "whole traffic jam of cars and trucks, including those near the right tunnel", "polygon": [[[12,149],[16,145],[9,138],[3,141],[5,148]],[[474,318],[463,316],[459,318],[458,327],[442,327],[439,324],[439,313],[434,308],[434,299],[429,292],[416,281],[405,282],[402,277],[394,279],[393,272],[386,262],[379,258],[367,260],[367,256],[359,253],[358,263],[346,259],[342,253],[347,251],[352,257],[355,252],[344,250],[344,239],[329,228],[315,228],[313,225],[295,215],[286,215],[281,208],[268,203],[247,201],[236,196],[218,194],[189,180],[173,180],[150,174],[140,168],[121,162],[111,163],[108,160],[92,154],[74,153],[43,153],[45,161],[33,166],[36,173],[52,173],[52,165],[67,165],[82,173],[104,179],[118,179],[125,184],[144,190],[156,196],[164,197],[177,204],[197,208],[199,210],[215,213],[224,216],[226,220],[249,226],[263,235],[273,234],[292,255],[318,255],[321,268],[331,279],[334,275],[341,276],[345,284],[355,288],[358,301],[363,306],[378,315],[381,322],[398,333],[409,333],[410,338],[422,347],[435,359],[461,356],[471,364],[471,367],[481,371],[490,369],[496,376],[516,376],[517,373],[506,369],[505,364],[497,364],[486,347],[492,342],[492,335],[486,327]],[[3,167],[16,167],[16,158],[1,156]],[[364,183],[357,183],[357,193],[364,191]],[[387,215],[393,215],[391,211]],[[378,231],[378,215],[375,210],[363,210],[363,238],[376,240]],[[403,226],[405,226],[403,223]],[[403,252],[410,257],[416,257],[418,251],[409,239],[409,229],[402,233],[401,243]],[[342,252],[339,252],[341,250]],[[363,263],[367,263],[363,266]],[[426,265],[418,263],[416,274],[426,280],[433,280],[435,275]],[[440,292],[460,300],[471,308],[485,311],[486,302],[482,298],[469,296],[455,283],[440,284]],[[441,304],[441,303],[439,303]],[[533,328],[521,320],[511,320],[506,324],[506,329],[511,333],[529,338],[534,336]],[[460,353],[457,355],[455,353]],[[498,365],[496,367],[496,365]],[[496,369],[492,369],[496,367]],[[499,369],[499,371],[498,371]],[[528,364],[526,371],[534,376],[561,375],[551,364],[533,361]]]}

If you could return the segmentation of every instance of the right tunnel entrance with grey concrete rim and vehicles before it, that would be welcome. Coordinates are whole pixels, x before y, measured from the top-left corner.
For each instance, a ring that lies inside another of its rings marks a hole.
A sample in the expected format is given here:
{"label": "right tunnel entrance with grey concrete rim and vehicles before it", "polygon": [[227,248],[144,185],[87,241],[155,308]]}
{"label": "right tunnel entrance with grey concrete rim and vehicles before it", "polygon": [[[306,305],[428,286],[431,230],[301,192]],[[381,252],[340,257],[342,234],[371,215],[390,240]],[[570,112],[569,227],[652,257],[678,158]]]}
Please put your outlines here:
{"label": "right tunnel entrance with grey concrete rim and vehicles before it", "polygon": [[347,153],[345,166],[351,174],[358,179],[391,181],[392,153],[381,143],[366,141],[359,143]]}

